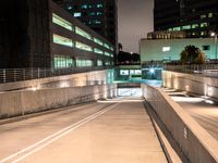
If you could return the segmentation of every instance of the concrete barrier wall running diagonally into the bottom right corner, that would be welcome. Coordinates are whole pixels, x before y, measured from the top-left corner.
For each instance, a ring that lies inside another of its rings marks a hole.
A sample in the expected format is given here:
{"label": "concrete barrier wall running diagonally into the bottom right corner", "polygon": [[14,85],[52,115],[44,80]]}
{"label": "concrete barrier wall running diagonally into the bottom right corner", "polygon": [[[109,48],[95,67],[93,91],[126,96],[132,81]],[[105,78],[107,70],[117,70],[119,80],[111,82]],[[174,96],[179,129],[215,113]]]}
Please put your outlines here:
{"label": "concrete barrier wall running diagonally into the bottom right corner", "polygon": [[218,162],[218,142],[159,88],[142,85],[145,99],[168,128],[189,162]]}

